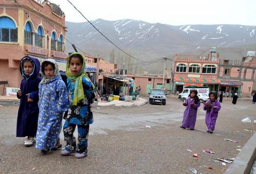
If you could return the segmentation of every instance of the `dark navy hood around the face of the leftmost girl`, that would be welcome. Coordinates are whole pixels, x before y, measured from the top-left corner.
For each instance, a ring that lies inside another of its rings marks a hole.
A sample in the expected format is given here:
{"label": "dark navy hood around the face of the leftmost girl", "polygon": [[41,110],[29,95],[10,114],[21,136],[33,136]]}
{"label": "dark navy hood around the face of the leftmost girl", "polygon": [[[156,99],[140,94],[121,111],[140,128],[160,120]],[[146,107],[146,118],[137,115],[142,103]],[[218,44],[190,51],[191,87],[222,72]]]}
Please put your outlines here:
{"label": "dark navy hood around the face of the leftmost girl", "polygon": [[[29,76],[27,76],[25,74],[23,66],[22,66],[24,60],[26,60],[26,59],[29,59],[33,64],[33,71]],[[23,77],[27,78],[27,79],[28,78],[35,78],[35,77],[37,77],[37,75],[39,74],[39,71],[40,71],[40,62],[39,62],[39,60],[37,60],[37,58],[30,57],[30,56],[25,56],[19,62],[19,71],[20,71],[20,74]]]}

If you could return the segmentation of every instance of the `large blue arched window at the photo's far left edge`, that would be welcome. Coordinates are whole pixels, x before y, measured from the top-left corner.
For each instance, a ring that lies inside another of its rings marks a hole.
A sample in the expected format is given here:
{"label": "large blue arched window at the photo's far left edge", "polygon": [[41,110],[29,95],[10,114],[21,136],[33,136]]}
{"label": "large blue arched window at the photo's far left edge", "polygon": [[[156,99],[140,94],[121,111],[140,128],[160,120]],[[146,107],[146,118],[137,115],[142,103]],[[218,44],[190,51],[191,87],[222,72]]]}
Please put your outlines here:
{"label": "large blue arched window at the photo's far left edge", "polygon": [[18,41],[18,30],[10,17],[0,17],[0,41]]}

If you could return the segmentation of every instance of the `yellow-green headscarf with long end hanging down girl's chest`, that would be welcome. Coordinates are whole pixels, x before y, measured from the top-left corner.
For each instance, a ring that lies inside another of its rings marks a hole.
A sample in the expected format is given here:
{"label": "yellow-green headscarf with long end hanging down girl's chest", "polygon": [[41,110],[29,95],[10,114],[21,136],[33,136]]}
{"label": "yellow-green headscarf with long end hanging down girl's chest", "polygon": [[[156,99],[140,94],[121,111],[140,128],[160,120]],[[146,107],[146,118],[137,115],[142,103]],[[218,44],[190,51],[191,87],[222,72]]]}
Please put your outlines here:
{"label": "yellow-green headscarf with long end hanging down girl's chest", "polygon": [[[82,62],[82,68],[78,76],[74,76],[70,69],[69,69],[69,63],[70,63],[70,58],[71,57],[81,57],[83,62]],[[83,93],[83,87],[82,87],[82,78],[86,75],[86,61],[83,57],[82,54],[80,53],[72,53],[69,55],[67,59],[67,64],[66,64],[66,76],[71,80],[75,81],[75,90],[74,90],[74,99],[73,99],[73,105],[77,105],[77,103],[81,100],[84,99],[84,93]]]}

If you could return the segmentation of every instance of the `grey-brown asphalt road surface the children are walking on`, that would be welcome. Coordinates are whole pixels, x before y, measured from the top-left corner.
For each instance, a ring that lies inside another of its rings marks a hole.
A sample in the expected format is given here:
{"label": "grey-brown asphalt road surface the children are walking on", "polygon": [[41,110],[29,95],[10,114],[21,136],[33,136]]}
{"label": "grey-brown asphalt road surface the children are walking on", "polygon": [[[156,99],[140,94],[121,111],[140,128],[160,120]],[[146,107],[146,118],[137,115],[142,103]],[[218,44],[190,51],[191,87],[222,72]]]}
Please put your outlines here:
{"label": "grey-brown asphalt road surface the children are walking on", "polygon": [[[235,158],[254,134],[256,125],[241,119],[256,119],[255,106],[249,100],[237,105],[224,101],[214,134],[205,132],[202,105],[196,129],[181,129],[185,107],[179,99],[169,98],[165,106],[95,108],[84,159],[62,157],[60,150],[42,156],[34,146],[25,147],[24,138],[15,137],[18,107],[0,106],[0,173],[191,173],[189,167],[198,173],[223,173],[229,164],[215,159]],[[64,145],[62,132],[60,138]],[[205,148],[216,154],[204,153]]]}

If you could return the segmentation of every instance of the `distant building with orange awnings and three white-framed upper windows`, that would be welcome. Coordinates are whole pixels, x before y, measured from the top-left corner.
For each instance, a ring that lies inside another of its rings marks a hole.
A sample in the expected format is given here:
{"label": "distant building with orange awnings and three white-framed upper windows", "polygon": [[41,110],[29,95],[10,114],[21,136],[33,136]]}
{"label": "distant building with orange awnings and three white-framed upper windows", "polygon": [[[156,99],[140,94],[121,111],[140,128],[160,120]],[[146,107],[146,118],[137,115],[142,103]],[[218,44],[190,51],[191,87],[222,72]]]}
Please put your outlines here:
{"label": "distant building with orange awnings and three white-framed upper windows", "polygon": [[209,86],[210,90],[219,90],[217,78],[220,57],[216,48],[208,55],[176,55],[174,62],[173,92],[182,92],[185,86]]}

